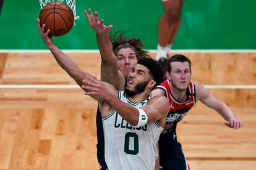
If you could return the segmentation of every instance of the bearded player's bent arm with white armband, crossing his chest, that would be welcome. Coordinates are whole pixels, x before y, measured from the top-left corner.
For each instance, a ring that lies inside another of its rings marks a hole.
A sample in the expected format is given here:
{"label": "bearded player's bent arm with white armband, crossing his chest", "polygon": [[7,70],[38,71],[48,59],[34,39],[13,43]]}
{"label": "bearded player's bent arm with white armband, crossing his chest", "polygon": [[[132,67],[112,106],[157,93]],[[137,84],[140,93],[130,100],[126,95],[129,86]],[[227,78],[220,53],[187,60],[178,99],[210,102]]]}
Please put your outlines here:
{"label": "bearded player's bent arm with white armband, crossing his chest", "polygon": [[[94,80],[93,80],[94,81]],[[106,86],[105,83],[101,81],[94,81],[92,84],[88,81],[84,81],[88,85],[82,86],[83,89],[87,89],[90,92],[85,94],[87,95],[96,95],[103,102],[103,99],[109,103],[109,105],[116,110],[122,118],[124,118],[129,124],[132,126],[139,126],[140,122],[140,112],[142,111],[143,114],[147,115],[147,123],[152,123],[154,121],[160,121],[160,125],[164,126],[165,117],[169,110],[169,102],[166,97],[157,96],[153,97],[148,101],[148,105],[142,107],[141,109],[137,109],[128,103],[124,103],[121,100],[117,99],[116,94],[114,95],[113,92],[109,92],[109,87]],[[110,88],[111,89],[111,88]]]}

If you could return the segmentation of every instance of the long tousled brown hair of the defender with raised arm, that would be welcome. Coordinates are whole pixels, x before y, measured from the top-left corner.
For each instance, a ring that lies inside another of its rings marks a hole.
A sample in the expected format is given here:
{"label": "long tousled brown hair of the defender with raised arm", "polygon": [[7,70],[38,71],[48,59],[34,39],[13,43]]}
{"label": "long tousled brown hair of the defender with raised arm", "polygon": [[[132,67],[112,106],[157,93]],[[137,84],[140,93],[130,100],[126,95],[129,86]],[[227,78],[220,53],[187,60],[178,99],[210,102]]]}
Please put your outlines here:
{"label": "long tousled brown hair of the defender with raised arm", "polygon": [[124,36],[125,33],[126,32],[117,31],[114,33],[114,36],[110,36],[114,54],[116,54],[120,49],[131,48],[136,52],[137,59],[140,59],[140,57],[150,57],[148,51],[143,50],[144,45],[140,39],[136,39],[134,37],[126,38]]}

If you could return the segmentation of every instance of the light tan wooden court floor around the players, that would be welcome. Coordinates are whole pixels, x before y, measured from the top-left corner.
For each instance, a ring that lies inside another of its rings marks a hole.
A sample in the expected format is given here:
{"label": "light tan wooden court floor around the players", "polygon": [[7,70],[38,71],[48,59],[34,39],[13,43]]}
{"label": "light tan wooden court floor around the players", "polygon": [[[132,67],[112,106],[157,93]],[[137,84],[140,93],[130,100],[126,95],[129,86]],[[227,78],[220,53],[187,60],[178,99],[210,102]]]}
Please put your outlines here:
{"label": "light tan wooden court floor around the players", "polygon": [[[100,77],[98,53],[66,54]],[[256,85],[256,53],[182,54],[192,60],[192,81],[215,85],[208,90],[244,123],[229,129],[198,102],[177,128],[190,168],[256,169],[256,89],[242,86]],[[49,52],[0,53],[0,85],[0,169],[99,169],[97,103],[72,86]]]}

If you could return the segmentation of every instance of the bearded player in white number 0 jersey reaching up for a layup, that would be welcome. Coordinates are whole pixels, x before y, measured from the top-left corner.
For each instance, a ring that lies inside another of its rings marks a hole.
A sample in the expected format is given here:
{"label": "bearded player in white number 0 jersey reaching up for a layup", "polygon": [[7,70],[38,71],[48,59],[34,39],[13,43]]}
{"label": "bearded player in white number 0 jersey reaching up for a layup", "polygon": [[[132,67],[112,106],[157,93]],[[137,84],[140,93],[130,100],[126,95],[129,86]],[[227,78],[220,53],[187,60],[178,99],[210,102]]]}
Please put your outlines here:
{"label": "bearded player in white number 0 jersey reaching up for a layup", "polygon": [[[111,84],[98,81],[87,72],[81,70],[74,61],[64,54],[49,38],[49,30],[45,30],[45,24],[40,26],[40,20],[37,20],[38,30],[41,38],[45,42],[48,49],[54,56],[54,59],[76,82],[79,86],[84,84],[83,89],[86,94],[91,95],[99,102],[101,117],[107,118],[113,111],[117,111],[122,119],[126,120],[126,128],[123,129],[125,135],[114,134],[116,138],[106,134],[106,156],[108,156],[108,168],[114,169],[154,169],[156,155],[156,141],[160,136],[160,132],[164,127],[166,115],[169,110],[168,99],[163,96],[151,97],[150,91],[163,81],[163,70],[161,66],[153,59],[140,59],[129,73],[126,89],[126,95],[129,103],[122,102],[117,97],[117,91]],[[119,46],[119,51],[124,52],[128,44]],[[127,51],[126,51],[127,52]],[[122,53],[121,53],[122,54]],[[127,68],[126,68],[127,69]],[[84,82],[83,82],[84,81]],[[140,108],[134,107],[135,103],[147,100],[147,105],[141,103]],[[110,119],[109,119],[110,120]],[[121,123],[124,123],[121,120]],[[105,121],[106,123],[108,121]],[[112,128],[114,123],[111,123]],[[147,130],[145,129],[147,127]],[[116,127],[118,128],[118,127]],[[110,127],[105,126],[105,131],[109,131]],[[141,130],[140,130],[141,129]],[[111,131],[111,130],[110,130]],[[135,134],[135,132],[137,134]],[[124,139],[122,139],[124,138]],[[118,140],[119,139],[119,140]],[[133,140],[132,140],[133,139]],[[124,142],[122,142],[124,141]],[[117,145],[118,144],[118,145]],[[119,145],[122,144],[122,145]],[[134,145],[135,144],[135,145]],[[120,147],[117,147],[120,146]],[[110,153],[114,147],[114,154]],[[138,153],[136,153],[138,152]],[[126,154],[126,156],[124,156]],[[120,155],[116,156],[115,155]]]}

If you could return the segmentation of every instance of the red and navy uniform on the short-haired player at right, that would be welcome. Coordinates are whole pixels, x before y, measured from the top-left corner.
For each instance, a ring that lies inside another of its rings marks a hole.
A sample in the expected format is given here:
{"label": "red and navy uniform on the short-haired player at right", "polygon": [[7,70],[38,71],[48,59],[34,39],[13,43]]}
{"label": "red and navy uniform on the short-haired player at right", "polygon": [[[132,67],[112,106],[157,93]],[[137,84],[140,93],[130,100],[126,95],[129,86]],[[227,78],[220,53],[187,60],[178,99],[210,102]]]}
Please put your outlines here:
{"label": "red and navy uniform on the short-haired player at right", "polygon": [[181,144],[177,142],[176,126],[187,112],[195,105],[195,84],[190,82],[186,91],[186,101],[179,102],[171,94],[170,81],[166,79],[156,88],[163,89],[170,103],[166,124],[158,141],[160,151],[160,165],[164,169],[189,169],[186,158],[182,152]]}

